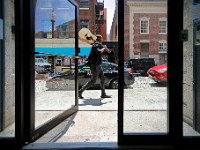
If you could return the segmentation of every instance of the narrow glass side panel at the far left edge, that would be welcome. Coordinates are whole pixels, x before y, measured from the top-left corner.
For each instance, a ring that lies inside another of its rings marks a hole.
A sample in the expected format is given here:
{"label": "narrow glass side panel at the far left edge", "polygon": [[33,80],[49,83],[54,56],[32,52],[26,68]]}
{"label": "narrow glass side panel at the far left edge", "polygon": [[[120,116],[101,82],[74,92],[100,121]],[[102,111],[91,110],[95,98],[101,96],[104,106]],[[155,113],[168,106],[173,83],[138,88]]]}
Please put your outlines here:
{"label": "narrow glass side panel at the far left edge", "polygon": [[14,17],[14,1],[0,1],[0,137],[15,136]]}

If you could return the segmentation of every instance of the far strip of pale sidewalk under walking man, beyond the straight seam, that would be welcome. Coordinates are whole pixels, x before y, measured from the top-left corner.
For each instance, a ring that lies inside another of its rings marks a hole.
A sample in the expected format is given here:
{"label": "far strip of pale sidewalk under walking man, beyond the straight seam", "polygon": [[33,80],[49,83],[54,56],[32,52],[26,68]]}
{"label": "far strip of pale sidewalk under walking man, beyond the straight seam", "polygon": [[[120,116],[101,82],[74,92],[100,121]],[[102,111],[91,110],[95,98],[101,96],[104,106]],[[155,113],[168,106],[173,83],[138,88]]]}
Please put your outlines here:
{"label": "far strip of pale sidewalk under walking man, beyond the straight seam", "polygon": [[[134,88],[124,90],[125,110],[166,110],[167,88]],[[112,98],[100,98],[100,90],[86,90],[79,99],[79,110],[117,110],[118,90],[107,89]],[[36,110],[66,110],[75,103],[74,91],[45,91],[36,95]],[[48,104],[48,105],[46,105]]]}

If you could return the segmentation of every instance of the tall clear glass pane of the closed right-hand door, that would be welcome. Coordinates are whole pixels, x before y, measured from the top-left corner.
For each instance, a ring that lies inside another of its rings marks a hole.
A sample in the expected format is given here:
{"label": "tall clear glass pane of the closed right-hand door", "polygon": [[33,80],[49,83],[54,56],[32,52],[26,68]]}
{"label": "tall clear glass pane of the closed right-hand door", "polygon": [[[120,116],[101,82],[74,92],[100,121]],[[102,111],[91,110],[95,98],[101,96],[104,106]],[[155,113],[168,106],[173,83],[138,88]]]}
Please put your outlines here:
{"label": "tall clear glass pane of the closed right-hand door", "polygon": [[[167,133],[167,0],[124,2],[124,133]],[[124,78],[128,78],[125,75]]]}

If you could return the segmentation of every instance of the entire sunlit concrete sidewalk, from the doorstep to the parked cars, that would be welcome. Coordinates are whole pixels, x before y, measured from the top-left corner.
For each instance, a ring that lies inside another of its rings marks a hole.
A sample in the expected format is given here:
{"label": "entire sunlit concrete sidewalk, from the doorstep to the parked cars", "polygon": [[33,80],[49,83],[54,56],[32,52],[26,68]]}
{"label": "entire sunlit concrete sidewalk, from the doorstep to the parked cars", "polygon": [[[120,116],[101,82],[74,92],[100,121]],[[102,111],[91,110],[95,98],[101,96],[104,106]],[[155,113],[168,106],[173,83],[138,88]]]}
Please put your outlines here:
{"label": "entire sunlit concrete sidewalk, from the doorstep to the parked cars", "polygon": [[[84,99],[79,99],[79,111],[61,123],[60,131],[53,132],[55,135],[51,133],[51,138],[47,134],[36,142],[117,142],[118,91],[106,92],[112,98],[100,98],[100,90],[86,90]],[[36,100],[36,120],[40,120],[44,110],[51,110],[49,113],[53,117],[53,112],[60,113],[72,103],[72,91],[46,91]],[[166,109],[166,87],[125,89],[124,132],[167,133]],[[184,133],[199,136],[185,123]]]}

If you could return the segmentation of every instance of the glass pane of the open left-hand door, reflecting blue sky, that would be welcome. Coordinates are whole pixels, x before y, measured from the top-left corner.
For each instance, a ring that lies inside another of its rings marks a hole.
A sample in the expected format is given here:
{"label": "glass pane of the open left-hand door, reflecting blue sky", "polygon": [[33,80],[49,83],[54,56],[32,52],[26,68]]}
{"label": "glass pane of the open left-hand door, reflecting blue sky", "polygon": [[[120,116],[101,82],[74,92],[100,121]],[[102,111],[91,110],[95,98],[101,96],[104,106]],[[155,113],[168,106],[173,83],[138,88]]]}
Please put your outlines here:
{"label": "glass pane of the open left-hand door, reflecting blue sky", "polygon": [[35,8],[35,127],[75,105],[75,7],[37,0]]}

